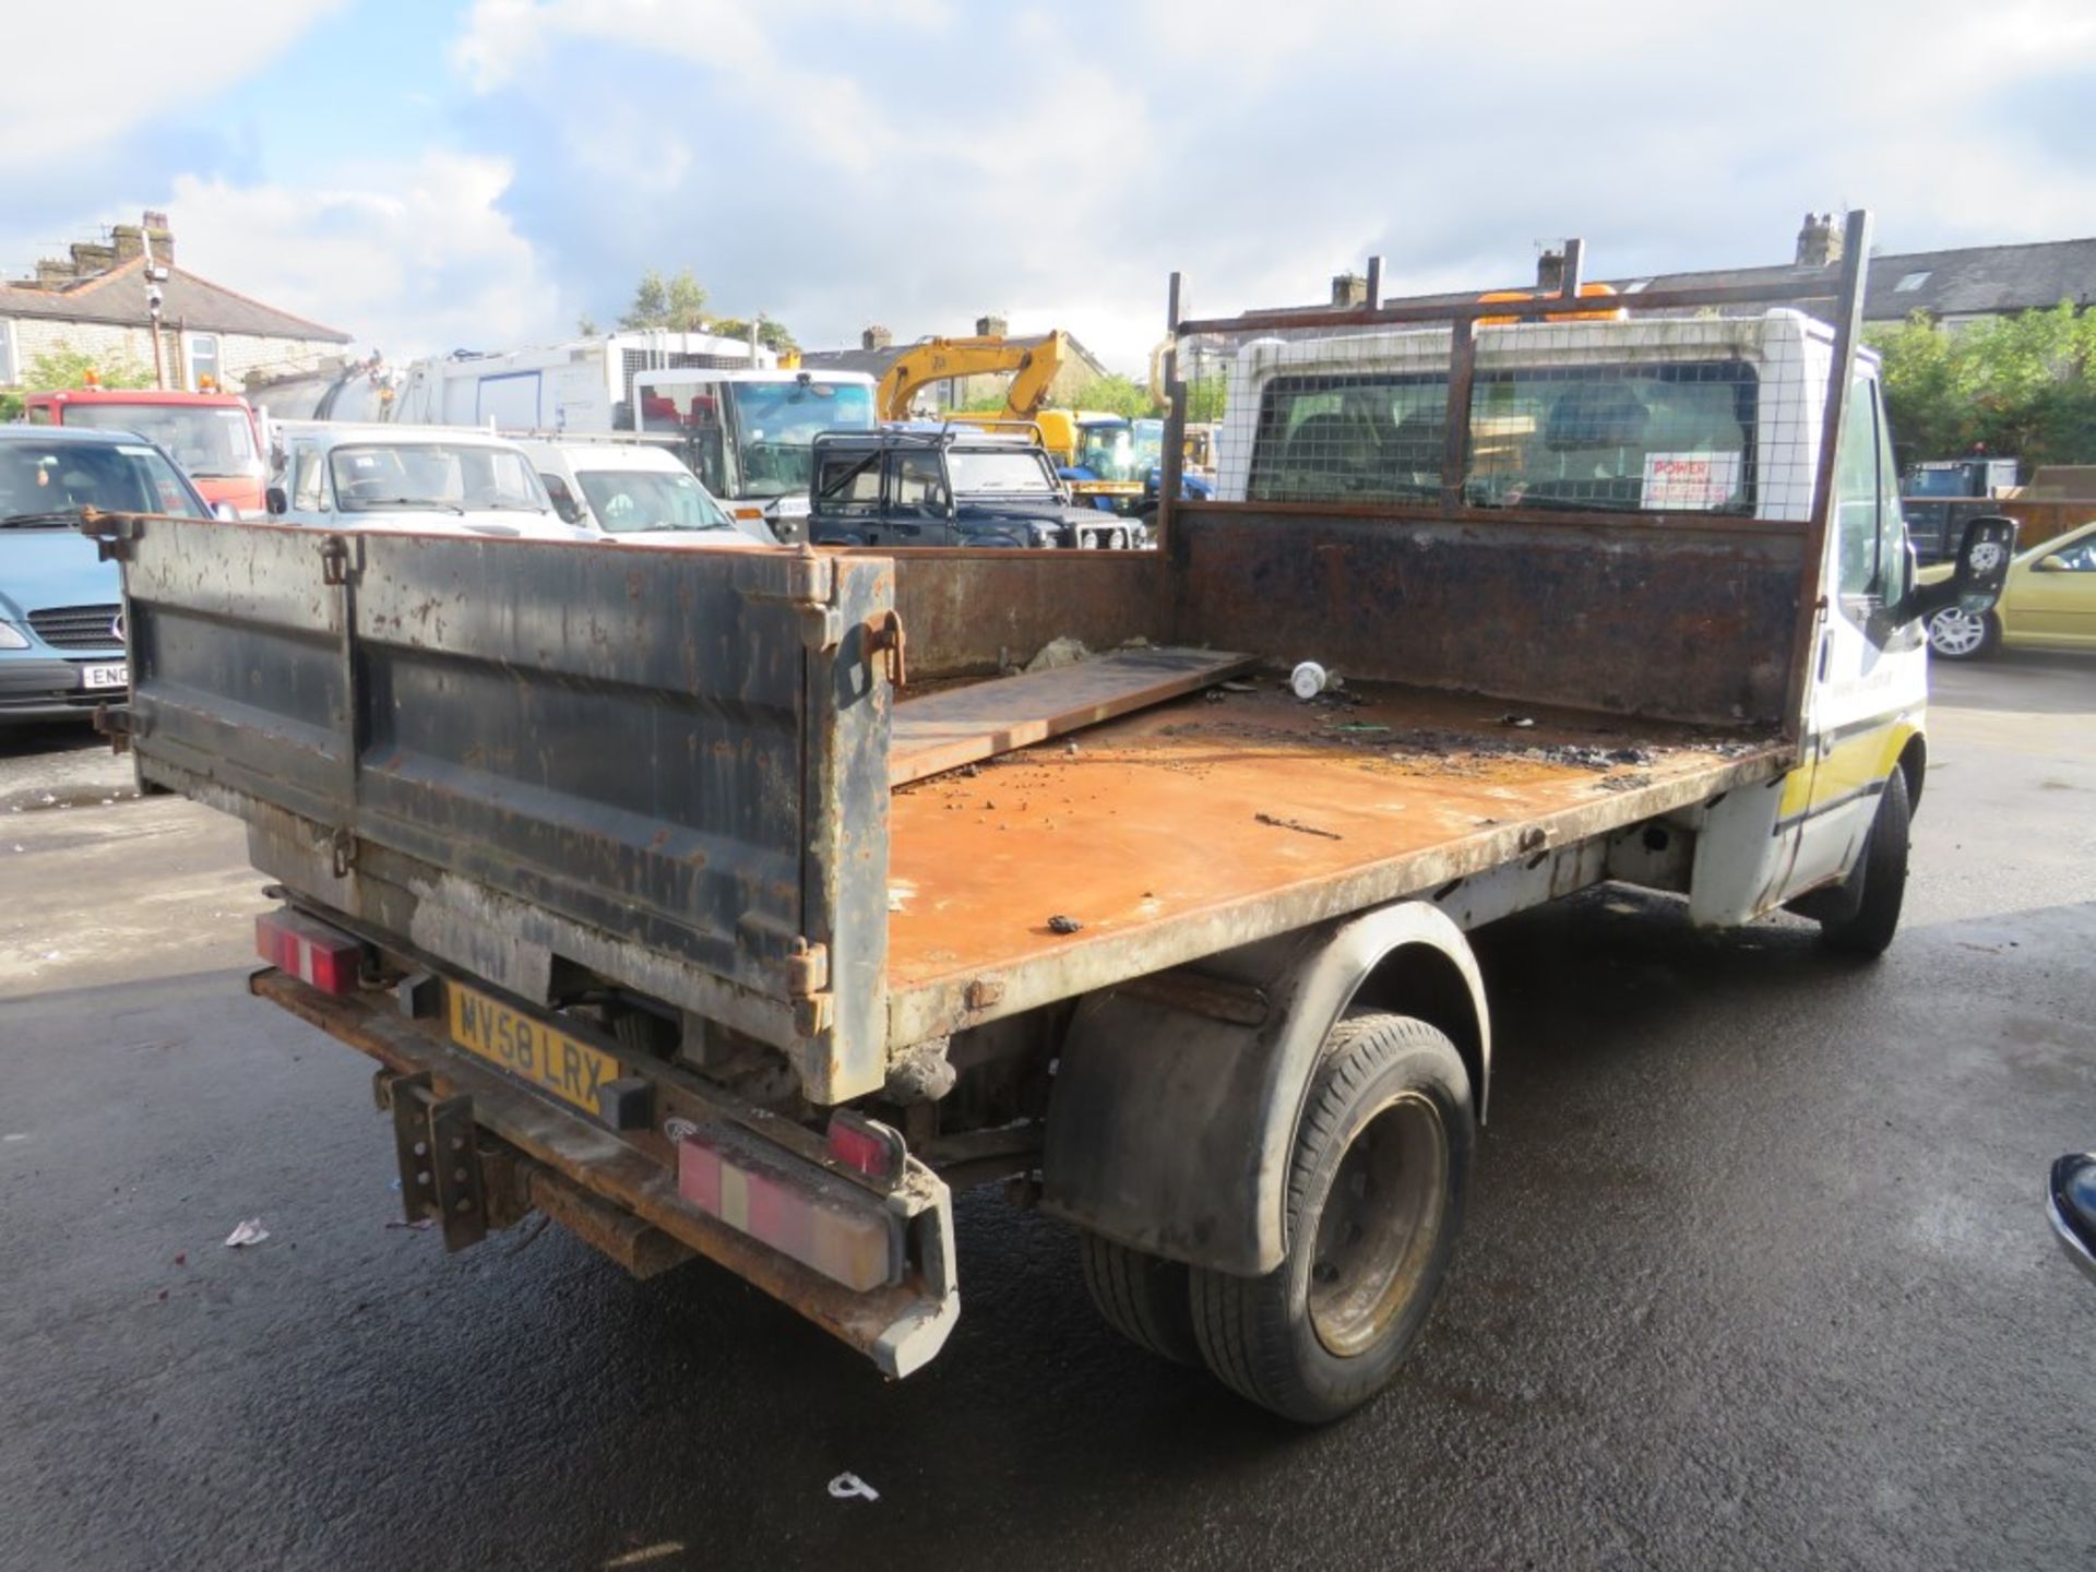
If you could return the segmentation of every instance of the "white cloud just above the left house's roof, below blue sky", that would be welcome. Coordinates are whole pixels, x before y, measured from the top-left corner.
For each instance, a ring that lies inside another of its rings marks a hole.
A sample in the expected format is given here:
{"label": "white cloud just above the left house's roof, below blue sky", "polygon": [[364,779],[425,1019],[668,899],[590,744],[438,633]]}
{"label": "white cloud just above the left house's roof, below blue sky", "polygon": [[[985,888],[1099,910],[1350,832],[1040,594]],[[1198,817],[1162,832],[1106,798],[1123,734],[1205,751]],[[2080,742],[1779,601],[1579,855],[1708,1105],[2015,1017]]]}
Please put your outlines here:
{"label": "white cloud just above the left house's roof, below blue sky", "polygon": [[560,335],[560,296],[499,208],[509,178],[461,153],[296,187],[182,176],[168,216],[182,266],[405,361]]}

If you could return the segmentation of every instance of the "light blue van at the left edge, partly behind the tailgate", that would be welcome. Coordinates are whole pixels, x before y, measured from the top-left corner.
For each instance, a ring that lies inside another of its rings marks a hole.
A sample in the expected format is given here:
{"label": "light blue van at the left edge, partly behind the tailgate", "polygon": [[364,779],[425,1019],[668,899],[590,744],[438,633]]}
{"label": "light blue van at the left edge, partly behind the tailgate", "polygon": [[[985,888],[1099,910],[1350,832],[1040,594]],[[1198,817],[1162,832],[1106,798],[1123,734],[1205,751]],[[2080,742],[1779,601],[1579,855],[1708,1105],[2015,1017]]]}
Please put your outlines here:
{"label": "light blue van at the left edge, partly behind the tailgate", "polygon": [[73,528],[84,507],[212,518],[138,436],[0,425],[0,725],[86,719],[130,692],[124,581]]}

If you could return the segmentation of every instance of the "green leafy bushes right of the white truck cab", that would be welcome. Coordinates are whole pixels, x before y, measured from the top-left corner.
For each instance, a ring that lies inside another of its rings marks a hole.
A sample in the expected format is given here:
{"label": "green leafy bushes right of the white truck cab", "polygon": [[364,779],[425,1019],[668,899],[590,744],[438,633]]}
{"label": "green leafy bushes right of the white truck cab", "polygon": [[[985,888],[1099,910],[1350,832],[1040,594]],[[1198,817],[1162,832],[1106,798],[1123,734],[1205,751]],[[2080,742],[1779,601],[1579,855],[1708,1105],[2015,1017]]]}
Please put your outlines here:
{"label": "green leafy bushes right of the white truck cab", "polygon": [[1922,314],[1874,327],[1901,461],[1974,449],[2039,463],[2096,463],[2096,316],[2069,302],[1964,327]]}

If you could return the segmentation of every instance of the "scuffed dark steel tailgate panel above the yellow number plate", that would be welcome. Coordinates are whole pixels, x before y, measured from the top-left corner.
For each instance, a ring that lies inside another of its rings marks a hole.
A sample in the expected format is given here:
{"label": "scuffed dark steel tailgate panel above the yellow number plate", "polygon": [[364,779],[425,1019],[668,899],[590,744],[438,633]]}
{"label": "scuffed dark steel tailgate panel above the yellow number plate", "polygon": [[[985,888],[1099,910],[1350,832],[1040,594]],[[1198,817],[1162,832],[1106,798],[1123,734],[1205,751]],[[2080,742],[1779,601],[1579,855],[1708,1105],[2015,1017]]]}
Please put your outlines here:
{"label": "scuffed dark steel tailgate panel above the yellow number plate", "polygon": [[880,1084],[882,560],[136,518],[140,780],[522,998],[597,979]]}

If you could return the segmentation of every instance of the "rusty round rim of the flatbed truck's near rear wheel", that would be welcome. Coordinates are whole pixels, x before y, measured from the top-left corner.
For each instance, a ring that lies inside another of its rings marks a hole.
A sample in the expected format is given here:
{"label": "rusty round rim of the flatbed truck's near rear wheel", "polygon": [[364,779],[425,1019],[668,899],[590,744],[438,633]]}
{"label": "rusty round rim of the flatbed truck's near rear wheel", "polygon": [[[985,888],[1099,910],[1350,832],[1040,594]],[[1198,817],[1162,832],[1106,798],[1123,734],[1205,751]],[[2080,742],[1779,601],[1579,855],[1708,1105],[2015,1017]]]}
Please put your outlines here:
{"label": "rusty round rim of the flatbed truck's near rear wheel", "polygon": [[1331,1354],[1375,1348],[1413,1302],[1446,1191],[1448,1132],[1425,1096],[1385,1102],[1354,1134],[1318,1207],[1310,1256],[1310,1329]]}

